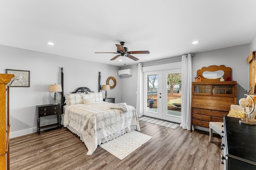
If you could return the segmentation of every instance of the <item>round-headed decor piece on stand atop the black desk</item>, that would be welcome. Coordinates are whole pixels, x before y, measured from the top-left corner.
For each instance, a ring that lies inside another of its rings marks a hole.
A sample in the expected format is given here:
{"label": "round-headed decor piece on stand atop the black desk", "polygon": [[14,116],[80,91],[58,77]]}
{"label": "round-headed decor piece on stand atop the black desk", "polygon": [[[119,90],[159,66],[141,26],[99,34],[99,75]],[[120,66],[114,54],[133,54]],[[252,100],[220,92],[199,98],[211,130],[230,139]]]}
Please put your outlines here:
{"label": "round-headed decor piece on stand atop the black desk", "polygon": [[[250,89],[250,90],[252,90],[252,89]],[[249,92],[250,92],[250,90],[249,90]],[[244,118],[242,118],[241,120],[239,120],[239,122],[244,123],[246,125],[256,125],[256,121],[252,121],[250,119],[251,118],[250,114],[254,111],[254,100],[250,95],[248,95],[249,92],[248,92],[248,94],[246,94],[246,91],[247,90],[245,90],[244,98],[241,98],[239,100],[239,105],[244,108],[244,114],[246,115],[246,120]],[[250,106],[250,104],[249,104],[249,99],[252,101],[252,106]],[[245,111],[246,106],[248,106],[248,108],[249,108],[249,113],[246,113],[246,111]]]}

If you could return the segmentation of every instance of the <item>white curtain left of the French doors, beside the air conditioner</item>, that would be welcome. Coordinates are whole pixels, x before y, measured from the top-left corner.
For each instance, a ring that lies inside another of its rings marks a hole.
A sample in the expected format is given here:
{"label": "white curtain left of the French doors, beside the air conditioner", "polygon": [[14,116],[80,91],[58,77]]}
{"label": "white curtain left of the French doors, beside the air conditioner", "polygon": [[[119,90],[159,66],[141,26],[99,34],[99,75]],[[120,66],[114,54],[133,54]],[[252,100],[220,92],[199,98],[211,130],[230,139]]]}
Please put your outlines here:
{"label": "white curtain left of the French doors, beside the air conditioner", "polygon": [[141,117],[142,113],[142,63],[138,63],[138,81],[137,81],[137,104],[136,111]]}

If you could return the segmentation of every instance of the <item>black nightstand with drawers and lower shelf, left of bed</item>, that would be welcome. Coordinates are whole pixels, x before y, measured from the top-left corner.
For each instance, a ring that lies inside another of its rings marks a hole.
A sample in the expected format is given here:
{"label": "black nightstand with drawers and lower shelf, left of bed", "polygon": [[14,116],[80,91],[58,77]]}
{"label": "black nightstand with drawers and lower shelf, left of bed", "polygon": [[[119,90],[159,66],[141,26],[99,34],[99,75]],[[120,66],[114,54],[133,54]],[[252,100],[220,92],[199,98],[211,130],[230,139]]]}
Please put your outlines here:
{"label": "black nightstand with drawers and lower shelf, left of bed", "polygon": [[[37,112],[37,132],[40,135],[40,128],[52,127],[58,125],[61,129],[61,104],[46,104],[36,106]],[[58,115],[58,123],[45,125],[40,127],[40,117]]]}

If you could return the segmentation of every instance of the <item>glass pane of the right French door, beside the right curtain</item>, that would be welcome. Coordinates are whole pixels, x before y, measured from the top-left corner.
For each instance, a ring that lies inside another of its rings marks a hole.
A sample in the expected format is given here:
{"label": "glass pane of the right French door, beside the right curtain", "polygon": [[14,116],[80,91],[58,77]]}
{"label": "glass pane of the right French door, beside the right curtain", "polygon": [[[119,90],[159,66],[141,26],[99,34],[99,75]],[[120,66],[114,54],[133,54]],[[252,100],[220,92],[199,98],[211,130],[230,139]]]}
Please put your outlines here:
{"label": "glass pane of the right French door, beside the right curtain", "polygon": [[181,116],[181,73],[167,74],[167,115]]}

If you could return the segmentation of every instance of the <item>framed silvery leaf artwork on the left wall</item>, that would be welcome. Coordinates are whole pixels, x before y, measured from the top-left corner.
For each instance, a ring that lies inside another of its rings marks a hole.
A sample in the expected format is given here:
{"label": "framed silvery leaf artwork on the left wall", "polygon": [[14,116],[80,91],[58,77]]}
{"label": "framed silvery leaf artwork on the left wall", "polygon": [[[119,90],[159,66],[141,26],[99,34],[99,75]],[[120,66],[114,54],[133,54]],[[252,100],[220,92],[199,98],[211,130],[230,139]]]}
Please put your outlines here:
{"label": "framed silvery leaf artwork on the left wall", "polygon": [[6,74],[14,74],[12,87],[29,87],[30,71],[6,69]]}

